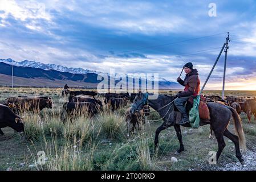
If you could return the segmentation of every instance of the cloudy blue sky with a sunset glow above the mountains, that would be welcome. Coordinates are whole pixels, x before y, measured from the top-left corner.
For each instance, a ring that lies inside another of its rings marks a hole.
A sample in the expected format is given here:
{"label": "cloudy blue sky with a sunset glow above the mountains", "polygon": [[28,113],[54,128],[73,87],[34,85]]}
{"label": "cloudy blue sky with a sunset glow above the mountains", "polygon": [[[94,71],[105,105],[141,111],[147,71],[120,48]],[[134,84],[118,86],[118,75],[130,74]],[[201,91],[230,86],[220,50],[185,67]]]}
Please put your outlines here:
{"label": "cloudy blue sky with a sunset glow above the mountains", "polygon": [[[253,0],[0,0],[0,32],[0,59],[159,73],[170,81],[192,61],[202,83],[230,32],[226,88],[256,90]],[[224,53],[208,89],[222,88],[223,69]]]}

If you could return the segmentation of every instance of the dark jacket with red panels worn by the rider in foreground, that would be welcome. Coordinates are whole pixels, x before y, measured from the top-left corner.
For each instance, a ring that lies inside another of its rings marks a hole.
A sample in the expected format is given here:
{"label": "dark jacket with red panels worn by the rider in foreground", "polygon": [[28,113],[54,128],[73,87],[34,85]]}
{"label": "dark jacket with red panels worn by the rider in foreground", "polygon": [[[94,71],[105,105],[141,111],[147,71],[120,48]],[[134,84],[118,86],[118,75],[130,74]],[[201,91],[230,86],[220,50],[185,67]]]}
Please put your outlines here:
{"label": "dark jacket with red panels worn by the rider in foreground", "polygon": [[200,79],[197,69],[192,69],[192,72],[186,74],[184,81],[180,78],[178,83],[185,86],[184,92],[177,94],[178,97],[197,96],[200,91]]}

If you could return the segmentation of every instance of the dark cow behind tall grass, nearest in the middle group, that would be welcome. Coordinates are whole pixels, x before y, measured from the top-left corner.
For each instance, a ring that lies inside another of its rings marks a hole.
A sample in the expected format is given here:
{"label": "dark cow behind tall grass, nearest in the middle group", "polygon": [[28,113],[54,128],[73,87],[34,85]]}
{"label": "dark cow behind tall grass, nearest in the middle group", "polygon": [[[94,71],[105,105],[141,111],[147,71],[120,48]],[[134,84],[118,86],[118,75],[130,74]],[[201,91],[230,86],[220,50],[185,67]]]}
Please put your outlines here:
{"label": "dark cow behind tall grass, nearest in the middle group", "polygon": [[[83,114],[87,112],[89,116],[94,116],[98,113],[99,107],[92,102],[66,102],[63,105],[63,111],[61,114],[61,119],[63,122],[67,121],[67,117],[73,117],[76,114]],[[64,117],[64,113],[67,113],[67,117]]]}

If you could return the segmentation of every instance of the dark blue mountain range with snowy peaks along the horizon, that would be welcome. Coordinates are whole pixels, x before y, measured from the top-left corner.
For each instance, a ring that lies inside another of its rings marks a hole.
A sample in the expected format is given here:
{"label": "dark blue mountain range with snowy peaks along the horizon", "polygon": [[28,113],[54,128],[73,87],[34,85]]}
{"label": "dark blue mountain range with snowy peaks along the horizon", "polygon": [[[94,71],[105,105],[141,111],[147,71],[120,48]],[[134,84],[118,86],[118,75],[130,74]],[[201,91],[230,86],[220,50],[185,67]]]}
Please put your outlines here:
{"label": "dark blue mountain range with snowy peaks along the horizon", "polygon": [[[30,80],[43,79],[44,81],[42,82],[44,83],[47,83],[47,80],[48,80],[48,81],[51,81],[51,84],[53,85],[59,85],[59,82],[63,83],[64,81],[66,81],[66,82],[72,82],[73,86],[76,85],[75,82],[77,82],[79,86],[83,84],[85,87],[87,85],[96,86],[100,82],[99,80],[97,80],[98,75],[104,76],[104,77],[107,76],[109,78],[108,73],[101,73],[101,72],[94,72],[94,71],[89,72],[88,69],[87,69],[88,72],[86,74],[62,72],[62,71],[57,71],[56,69],[49,69],[50,67],[47,67],[47,65],[43,63],[29,61],[29,60],[17,62],[12,59],[5,59],[5,60],[0,59],[0,74],[11,76],[11,64],[14,65],[15,77],[23,78],[23,80],[25,80],[25,78]],[[51,68],[54,67],[53,65],[55,67],[58,67],[58,66],[63,67],[60,65],[52,64]],[[83,68],[78,68],[78,69],[83,69]],[[118,76],[118,74],[116,74],[116,76]],[[145,78],[142,78],[142,79],[145,79]],[[21,79],[18,79],[18,80],[19,82],[18,83],[15,82],[15,85],[26,83],[23,80],[21,81]],[[56,84],[54,84],[54,82],[56,82]],[[116,80],[115,83],[117,82],[118,81]],[[32,83],[34,84],[28,83],[29,85],[24,85],[24,86],[33,86],[33,85],[38,86],[37,84],[35,84],[35,80],[33,80]],[[5,82],[1,81],[0,84],[5,84]],[[7,85],[10,85],[10,83]],[[165,78],[160,78],[159,89],[181,89],[181,86],[176,82],[165,80]]]}

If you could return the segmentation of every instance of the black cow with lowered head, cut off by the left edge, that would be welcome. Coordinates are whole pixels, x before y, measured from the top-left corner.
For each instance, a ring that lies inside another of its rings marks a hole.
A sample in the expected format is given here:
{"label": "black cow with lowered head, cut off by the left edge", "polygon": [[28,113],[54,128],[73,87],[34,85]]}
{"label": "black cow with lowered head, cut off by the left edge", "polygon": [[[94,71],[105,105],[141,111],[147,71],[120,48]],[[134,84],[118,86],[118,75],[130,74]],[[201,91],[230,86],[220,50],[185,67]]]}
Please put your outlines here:
{"label": "black cow with lowered head, cut off by the left edge", "polygon": [[4,134],[1,128],[7,126],[11,127],[19,134],[24,132],[23,119],[14,114],[8,106],[0,104],[0,135]]}

